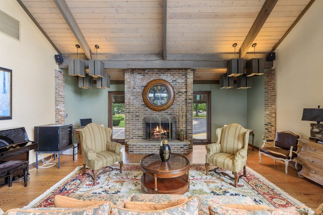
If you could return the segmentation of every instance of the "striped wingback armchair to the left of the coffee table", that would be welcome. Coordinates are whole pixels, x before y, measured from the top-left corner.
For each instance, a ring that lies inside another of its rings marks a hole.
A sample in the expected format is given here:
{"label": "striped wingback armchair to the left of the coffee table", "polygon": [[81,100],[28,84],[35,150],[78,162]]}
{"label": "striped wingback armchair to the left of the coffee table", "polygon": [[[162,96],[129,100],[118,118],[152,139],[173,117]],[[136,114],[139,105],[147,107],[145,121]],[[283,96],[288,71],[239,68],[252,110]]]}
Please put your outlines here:
{"label": "striped wingback armchair to the left of the coffee table", "polygon": [[112,142],[111,134],[111,128],[102,127],[96,123],[87,124],[80,129],[83,175],[85,174],[86,166],[91,168],[94,184],[96,184],[96,179],[99,175],[97,173],[102,167],[110,167],[109,170],[112,171],[118,168],[113,168],[111,165],[119,162],[120,173],[122,173],[122,145],[118,142]]}

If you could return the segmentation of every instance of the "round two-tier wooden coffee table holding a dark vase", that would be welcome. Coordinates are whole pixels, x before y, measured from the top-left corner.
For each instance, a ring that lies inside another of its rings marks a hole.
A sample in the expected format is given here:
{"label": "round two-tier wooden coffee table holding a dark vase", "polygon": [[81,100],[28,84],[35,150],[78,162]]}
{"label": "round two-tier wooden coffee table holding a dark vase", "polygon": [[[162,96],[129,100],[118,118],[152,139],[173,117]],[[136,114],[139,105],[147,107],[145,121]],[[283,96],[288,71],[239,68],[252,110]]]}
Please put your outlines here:
{"label": "round two-tier wooden coffee table holding a dark vase", "polygon": [[180,154],[171,154],[162,162],[159,154],[150,154],[140,161],[141,188],[146,193],[183,194],[189,190],[190,161]]}

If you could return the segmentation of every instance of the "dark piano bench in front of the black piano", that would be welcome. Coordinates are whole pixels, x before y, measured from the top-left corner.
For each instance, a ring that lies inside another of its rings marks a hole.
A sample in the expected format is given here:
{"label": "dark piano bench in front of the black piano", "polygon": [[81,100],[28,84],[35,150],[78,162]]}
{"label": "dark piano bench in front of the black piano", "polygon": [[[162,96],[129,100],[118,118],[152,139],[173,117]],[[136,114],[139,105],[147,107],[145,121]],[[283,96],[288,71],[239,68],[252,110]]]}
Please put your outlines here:
{"label": "dark piano bench in front of the black piano", "polygon": [[12,186],[13,174],[23,170],[25,187],[27,187],[28,181],[28,165],[29,161],[7,161],[0,164],[0,178],[6,178],[9,187]]}

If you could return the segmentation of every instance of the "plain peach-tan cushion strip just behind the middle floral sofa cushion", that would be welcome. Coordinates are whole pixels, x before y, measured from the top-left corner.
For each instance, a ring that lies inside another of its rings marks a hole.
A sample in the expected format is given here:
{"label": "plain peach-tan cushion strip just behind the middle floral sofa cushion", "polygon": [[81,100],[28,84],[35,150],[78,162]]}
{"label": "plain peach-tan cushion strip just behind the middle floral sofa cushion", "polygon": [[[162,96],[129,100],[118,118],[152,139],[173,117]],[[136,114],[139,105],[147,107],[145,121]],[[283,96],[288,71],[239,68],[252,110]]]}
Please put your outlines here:
{"label": "plain peach-tan cushion strip just behind the middle floral sofa cushion", "polygon": [[173,207],[185,203],[187,199],[179,199],[176,201],[164,202],[164,203],[154,203],[150,201],[129,201],[126,202],[124,208],[135,209],[140,211],[148,210],[161,210],[168,207]]}

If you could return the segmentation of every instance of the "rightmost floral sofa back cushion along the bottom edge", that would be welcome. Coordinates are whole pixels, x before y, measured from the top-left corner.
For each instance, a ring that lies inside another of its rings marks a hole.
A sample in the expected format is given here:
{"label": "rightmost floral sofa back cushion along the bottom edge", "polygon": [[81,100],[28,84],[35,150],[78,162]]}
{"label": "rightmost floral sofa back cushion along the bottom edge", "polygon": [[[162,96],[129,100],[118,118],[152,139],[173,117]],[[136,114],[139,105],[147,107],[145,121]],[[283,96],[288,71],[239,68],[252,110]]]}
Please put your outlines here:
{"label": "rightmost floral sofa back cushion along the bottom edge", "polygon": [[244,215],[265,215],[265,214],[288,214],[288,215],[307,215],[307,207],[286,207],[286,208],[271,208],[271,209],[256,209],[256,210],[245,210],[226,207],[222,205],[209,205],[210,215],[233,215],[233,214],[244,214]]}

